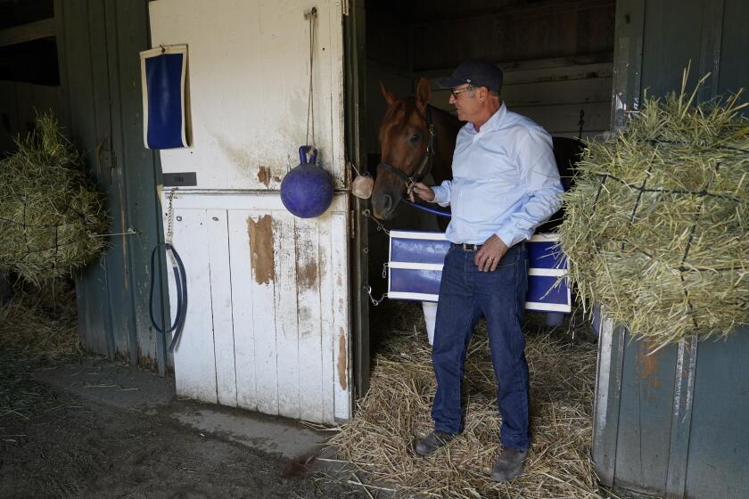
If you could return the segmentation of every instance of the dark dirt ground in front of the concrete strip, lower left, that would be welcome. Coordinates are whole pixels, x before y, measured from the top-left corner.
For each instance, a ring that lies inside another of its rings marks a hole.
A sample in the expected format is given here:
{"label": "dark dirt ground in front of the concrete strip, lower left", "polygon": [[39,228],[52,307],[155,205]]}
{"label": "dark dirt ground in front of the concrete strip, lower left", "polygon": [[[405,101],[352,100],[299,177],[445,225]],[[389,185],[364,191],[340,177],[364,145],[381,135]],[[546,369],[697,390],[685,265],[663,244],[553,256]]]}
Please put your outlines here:
{"label": "dark dirt ground in front of the concrete strip, lower left", "polygon": [[41,382],[51,366],[18,354],[0,366],[0,497],[368,496],[171,417],[193,402],[116,406]]}

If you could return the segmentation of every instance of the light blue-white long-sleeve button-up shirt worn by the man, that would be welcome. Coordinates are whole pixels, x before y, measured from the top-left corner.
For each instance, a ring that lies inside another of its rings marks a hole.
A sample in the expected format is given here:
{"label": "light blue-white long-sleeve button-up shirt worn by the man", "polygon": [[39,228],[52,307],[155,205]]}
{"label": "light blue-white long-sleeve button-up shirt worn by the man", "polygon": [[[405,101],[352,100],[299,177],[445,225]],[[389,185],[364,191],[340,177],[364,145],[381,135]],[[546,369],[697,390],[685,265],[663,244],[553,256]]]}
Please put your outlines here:
{"label": "light blue-white long-sleeve button-up shirt worn by the man", "polygon": [[480,131],[473,123],[460,129],[452,170],[432,200],[452,209],[452,242],[482,244],[497,234],[512,247],[561,206],[551,135],[504,103]]}

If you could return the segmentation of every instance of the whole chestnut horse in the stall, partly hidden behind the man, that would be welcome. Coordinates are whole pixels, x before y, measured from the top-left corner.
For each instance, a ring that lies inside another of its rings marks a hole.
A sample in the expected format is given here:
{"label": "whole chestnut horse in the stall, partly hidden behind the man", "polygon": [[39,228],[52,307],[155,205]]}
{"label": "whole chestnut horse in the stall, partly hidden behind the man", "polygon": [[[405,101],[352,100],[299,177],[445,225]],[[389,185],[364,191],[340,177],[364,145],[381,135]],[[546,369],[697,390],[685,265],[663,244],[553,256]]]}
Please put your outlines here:
{"label": "whole chestnut horse in the stall, partly hidden behind the man", "polygon": [[[381,163],[372,192],[374,216],[389,220],[410,183],[431,173],[435,184],[452,178],[452,156],[457,132],[462,127],[447,111],[429,105],[429,82],[419,79],[416,97],[398,99],[380,83],[388,110],[380,126]],[[554,156],[564,190],[570,188],[572,168],[583,144],[576,139],[553,137]],[[561,221],[558,212],[539,232],[553,230]]]}

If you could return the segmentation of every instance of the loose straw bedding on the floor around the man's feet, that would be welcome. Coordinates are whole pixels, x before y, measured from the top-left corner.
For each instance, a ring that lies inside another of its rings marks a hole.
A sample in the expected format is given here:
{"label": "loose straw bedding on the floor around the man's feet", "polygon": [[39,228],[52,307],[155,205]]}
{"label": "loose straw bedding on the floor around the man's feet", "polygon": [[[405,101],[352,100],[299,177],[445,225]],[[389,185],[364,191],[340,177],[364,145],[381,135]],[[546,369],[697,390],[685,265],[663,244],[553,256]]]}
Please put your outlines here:
{"label": "loose straw bedding on the floor around the man's feet", "polygon": [[490,479],[490,471],[501,450],[501,416],[483,322],[477,326],[465,364],[464,432],[432,456],[414,453],[416,438],[432,429],[436,383],[421,307],[409,306],[402,305],[400,310],[407,312],[397,319],[404,326],[396,326],[381,343],[370,390],[359,402],[356,416],[330,440],[340,459],[363,471],[367,483],[395,489],[397,497],[603,497],[588,458],[594,344],[529,331],[531,454],[523,477],[498,484]]}

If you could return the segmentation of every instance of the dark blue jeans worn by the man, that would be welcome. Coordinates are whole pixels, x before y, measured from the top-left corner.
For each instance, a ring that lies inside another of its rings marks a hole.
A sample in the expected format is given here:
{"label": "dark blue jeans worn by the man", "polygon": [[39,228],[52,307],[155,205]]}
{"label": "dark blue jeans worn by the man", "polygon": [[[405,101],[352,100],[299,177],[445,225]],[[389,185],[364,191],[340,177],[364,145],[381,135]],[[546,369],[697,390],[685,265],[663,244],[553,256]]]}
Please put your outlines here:
{"label": "dark blue jeans worn by the man", "polygon": [[432,405],[434,429],[459,433],[463,427],[461,392],[465,353],[473,327],[486,317],[497,405],[502,414],[503,446],[527,449],[529,381],[525,361],[523,311],[528,288],[525,243],[510,248],[493,272],[481,272],[473,263],[475,251],[451,245],[440,283],[432,366],[437,394]]}

